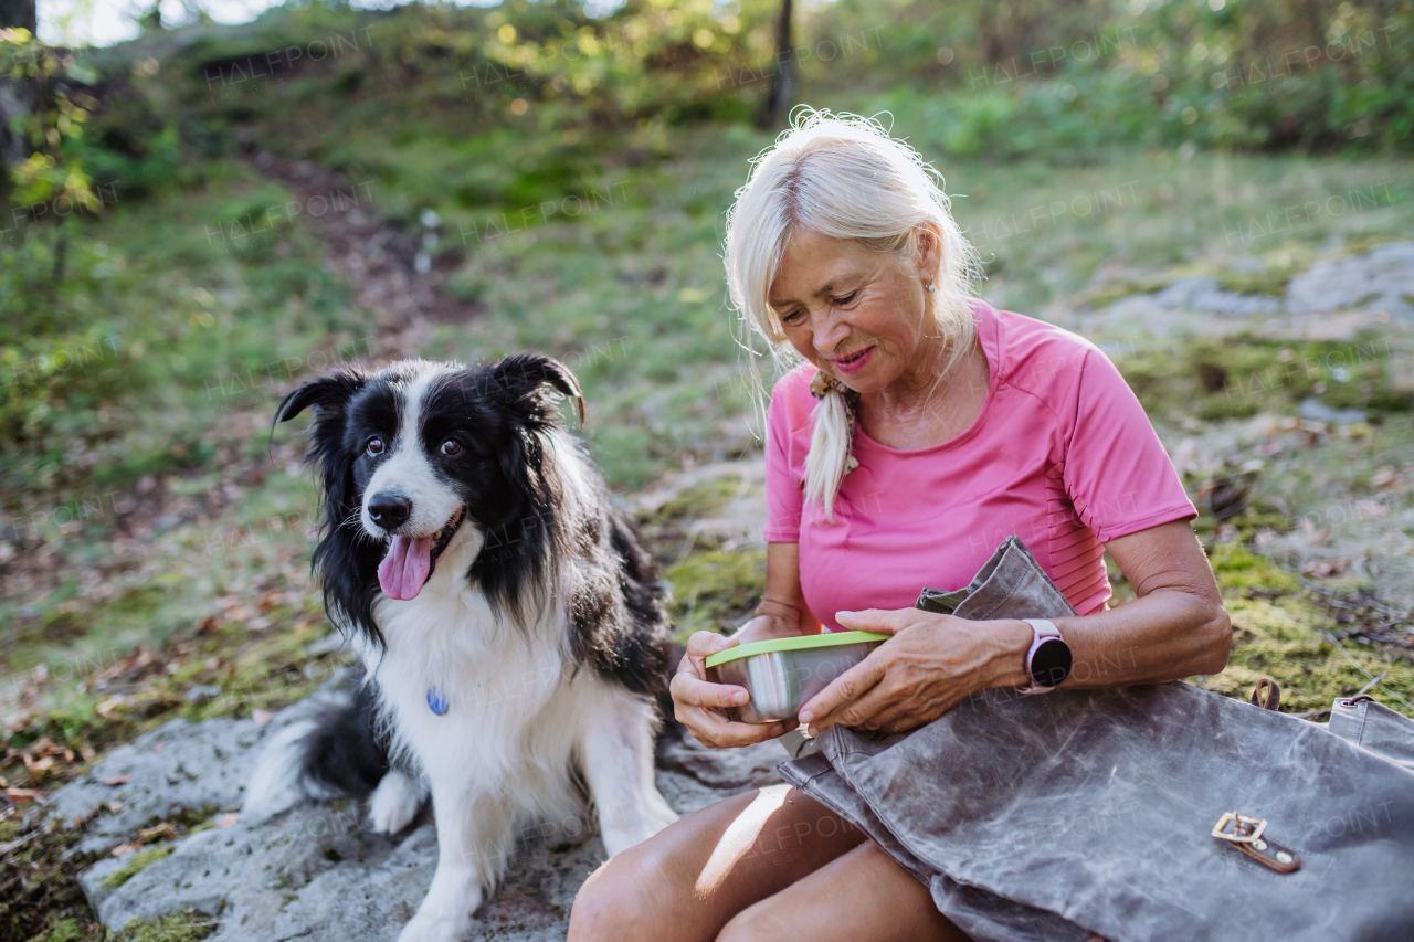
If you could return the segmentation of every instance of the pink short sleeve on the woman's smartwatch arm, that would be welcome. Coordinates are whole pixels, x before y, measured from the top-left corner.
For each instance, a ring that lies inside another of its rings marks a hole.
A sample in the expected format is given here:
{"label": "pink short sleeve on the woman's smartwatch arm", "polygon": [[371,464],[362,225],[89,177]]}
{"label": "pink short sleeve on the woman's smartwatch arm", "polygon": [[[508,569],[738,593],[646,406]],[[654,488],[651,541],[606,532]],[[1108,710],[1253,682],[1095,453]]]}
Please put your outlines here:
{"label": "pink short sleeve on the woman's smartwatch arm", "polygon": [[1102,543],[1198,516],[1144,406],[1097,348],[1086,354],[1063,478]]}

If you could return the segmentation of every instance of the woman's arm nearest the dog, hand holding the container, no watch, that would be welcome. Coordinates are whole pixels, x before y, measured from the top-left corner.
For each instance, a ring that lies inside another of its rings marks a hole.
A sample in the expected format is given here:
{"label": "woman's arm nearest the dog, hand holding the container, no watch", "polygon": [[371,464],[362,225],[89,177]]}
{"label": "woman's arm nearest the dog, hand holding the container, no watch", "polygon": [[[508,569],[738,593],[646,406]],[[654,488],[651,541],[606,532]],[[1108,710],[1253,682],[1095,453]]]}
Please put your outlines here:
{"label": "woman's arm nearest the dog, hand holding the container, no watch", "polygon": [[687,641],[687,653],[677,665],[669,685],[673,713],[677,721],[703,745],[725,748],[773,740],[799,726],[795,720],[766,726],[764,723],[732,723],[723,716],[723,707],[747,702],[745,687],[707,680],[707,655],[740,644],[766,638],[792,638],[820,634],[820,621],[810,614],[800,591],[799,543],[766,545],[766,590],[756,607],[756,617],[731,638],[715,631],[699,631]]}

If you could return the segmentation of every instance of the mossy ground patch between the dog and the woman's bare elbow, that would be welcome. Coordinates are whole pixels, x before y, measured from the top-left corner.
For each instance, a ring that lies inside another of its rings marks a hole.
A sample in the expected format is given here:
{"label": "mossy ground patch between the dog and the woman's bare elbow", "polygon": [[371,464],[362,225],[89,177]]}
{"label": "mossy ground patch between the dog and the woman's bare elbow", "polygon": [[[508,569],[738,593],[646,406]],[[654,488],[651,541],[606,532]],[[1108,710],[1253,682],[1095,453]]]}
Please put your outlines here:
{"label": "mossy ground patch between the dog and the woman's bare elbow", "polygon": [[667,573],[673,586],[676,636],[725,631],[761,600],[766,578],[765,550],[707,550],[690,554]]}

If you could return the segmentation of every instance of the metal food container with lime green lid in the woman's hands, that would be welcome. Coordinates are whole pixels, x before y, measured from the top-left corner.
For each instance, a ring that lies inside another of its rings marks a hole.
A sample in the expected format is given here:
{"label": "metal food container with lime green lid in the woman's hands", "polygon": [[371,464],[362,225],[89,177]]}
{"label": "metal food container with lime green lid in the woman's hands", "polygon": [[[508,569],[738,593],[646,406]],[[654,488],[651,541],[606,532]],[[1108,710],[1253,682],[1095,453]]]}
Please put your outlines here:
{"label": "metal food container with lime green lid in the woman's hands", "polygon": [[708,655],[707,679],[745,687],[751,694],[744,706],[727,709],[730,720],[792,720],[806,700],[864,661],[888,638],[872,631],[831,631],[755,641]]}

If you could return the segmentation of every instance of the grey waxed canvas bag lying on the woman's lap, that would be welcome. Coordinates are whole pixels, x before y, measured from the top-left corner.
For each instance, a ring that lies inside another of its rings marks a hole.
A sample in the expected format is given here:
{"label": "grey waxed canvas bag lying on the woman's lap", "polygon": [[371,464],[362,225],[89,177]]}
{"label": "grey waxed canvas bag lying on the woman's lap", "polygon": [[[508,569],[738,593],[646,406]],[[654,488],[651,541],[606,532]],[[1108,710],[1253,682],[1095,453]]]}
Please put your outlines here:
{"label": "grey waxed canvas bag lying on the woman's lap", "polygon": [[[1017,537],[918,605],[1075,614]],[[816,743],[785,779],[978,941],[1414,939],[1414,721],[1370,697],[1336,700],[1326,727],[1186,683],[987,692],[909,733]],[[1299,867],[1213,837],[1233,810]]]}

